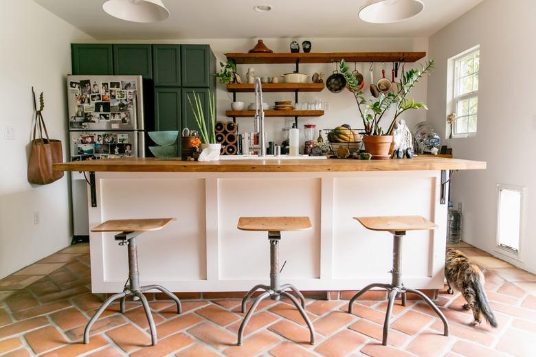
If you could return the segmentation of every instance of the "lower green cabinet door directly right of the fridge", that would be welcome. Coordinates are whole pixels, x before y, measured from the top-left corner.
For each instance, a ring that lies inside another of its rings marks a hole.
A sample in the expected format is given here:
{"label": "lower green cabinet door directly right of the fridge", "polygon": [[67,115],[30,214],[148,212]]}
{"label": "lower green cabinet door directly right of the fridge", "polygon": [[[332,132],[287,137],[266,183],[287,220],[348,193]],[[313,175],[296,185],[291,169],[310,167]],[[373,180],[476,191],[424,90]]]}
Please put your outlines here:
{"label": "lower green cabinet door directly right of the fridge", "polygon": [[155,88],[155,130],[180,130],[181,89]]}

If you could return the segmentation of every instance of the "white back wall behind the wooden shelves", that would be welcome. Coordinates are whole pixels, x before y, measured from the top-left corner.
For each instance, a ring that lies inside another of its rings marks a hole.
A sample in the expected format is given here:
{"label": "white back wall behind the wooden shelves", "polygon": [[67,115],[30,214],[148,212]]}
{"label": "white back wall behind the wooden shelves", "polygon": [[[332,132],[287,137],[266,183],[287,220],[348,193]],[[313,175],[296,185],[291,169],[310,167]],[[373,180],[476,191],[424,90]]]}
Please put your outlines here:
{"label": "white back wall behind the wooden shelves", "polygon": [[[428,41],[427,38],[264,38],[264,43],[275,52],[289,52],[289,45],[291,41],[297,40],[301,43],[303,40],[310,40],[313,44],[312,51],[316,52],[337,52],[337,51],[427,51]],[[218,61],[225,62],[225,53],[227,52],[246,52],[256,44],[254,38],[227,38],[227,39],[196,39],[196,40],[150,40],[150,41],[117,41],[110,38],[109,41],[98,41],[108,43],[199,43],[208,44],[214,51]],[[301,49],[300,49],[301,51]],[[420,62],[424,63],[425,59]],[[353,63],[350,63],[350,68],[353,69]],[[370,84],[370,75],[368,72],[369,63],[357,64],[357,69],[363,73],[366,80],[366,87]],[[416,64],[408,64],[405,69],[410,69]],[[375,65],[375,80],[381,78],[381,63]],[[392,63],[386,63],[386,77],[390,78]],[[243,82],[246,81],[245,73],[248,67],[255,69],[256,76],[279,76],[282,73],[288,73],[295,70],[295,65],[238,65],[238,74],[240,74]],[[219,70],[219,64],[217,65]],[[324,73],[324,81],[335,70],[335,65],[318,64],[318,65],[300,65],[300,73],[305,73],[312,76],[315,72]],[[426,78],[423,78],[421,83],[412,91],[410,97],[414,97],[415,100],[425,102],[426,101]],[[225,90],[223,84],[217,85],[217,112],[219,119],[230,120],[225,117],[225,111],[230,110],[232,102],[232,93],[228,93]],[[370,94],[368,94],[370,96]],[[294,100],[293,93],[265,93],[265,102],[273,105],[276,100]],[[254,102],[253,93],[238,93],[236,99],[247,104]],[[327,89],[324,89],[321,93],[300,93],[300,102],[309,102],[309,100],[321,100],[322,102],[329,102],[330,109],[322,117],[316,118],[300,118],[298,120],[299,128],[302,130],[304,124],[316,124],[317,129],[334,128],[341,124],[350,124],[354,128],[362,128],[363,124],[357,112],[357,104],[353,94],[349,91],[344,91],[339,94],[333,94]],[[425,111],[411,111],[402,115],[403,119],[406,119],[407,124],[412,128],[414,124],[423,122],[426,119]],[[387,128],[390,124],[392,115],[388,117],[388,120],[381,122],[381,126]],[[265,127],[268,133],[269,141],[276,141],[278,143],[281,140],[281,128],[284,126],[291,126],[294,119],[292,118],[278,118],[270,117],[265,119]],[[239,129],[241,132],[253,131],[253,118],[238,118]],[[303,134],[301,139],[303,140]]]}

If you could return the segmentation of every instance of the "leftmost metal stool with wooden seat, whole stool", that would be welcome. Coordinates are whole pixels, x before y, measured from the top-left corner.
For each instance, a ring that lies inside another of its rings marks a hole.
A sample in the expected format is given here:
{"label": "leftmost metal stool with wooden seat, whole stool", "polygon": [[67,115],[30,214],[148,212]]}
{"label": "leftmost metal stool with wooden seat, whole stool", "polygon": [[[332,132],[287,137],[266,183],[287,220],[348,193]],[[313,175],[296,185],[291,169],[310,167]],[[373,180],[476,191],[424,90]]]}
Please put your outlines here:
{"label": "leftmost metal stool with wooden seat, whole stool", "polygon": [[159,285],[148,285],[148,286],[139,286],[139,270],[137,268],[137,249],[136,249],[136,237],[146,231],[159,231],[160,229],[166,227],[169,222],[175,220],[175,218],[155,218],[155,219],[140,219],[140,220],[107,220],[106,222],[100,224],[99,226],[91,229],[92,232],[122,232],[115,235],[115,240],[119,240],[119,245],[129,246],[129,279],[126,281],[124,290],[118,294],[112,295],[109,297],[99,310],[91,317],[91,320],[87,323],[86,329],[84,331],[84,343],[89,343],[89,331],[91,326],[97,319],[100,314],[110,305],[110,303],[116,299],[121,299],[120,309],[121,313],[124,313],[125,300],[127,296],[133,296],[142,300],[142,305],[147,316],[150,327],[150,338],[152,345],[157,344],[157,334],[155,321],[153,320],[153,315],[150,312],[149,304],[146,297],[143,295],[144,292],[148,290],[160,290],[164,294],[168,295],[171,299],[177,303],[177,314],[182,312],[181,301],[175,294],[170,292],[168,289],[159,286]]}

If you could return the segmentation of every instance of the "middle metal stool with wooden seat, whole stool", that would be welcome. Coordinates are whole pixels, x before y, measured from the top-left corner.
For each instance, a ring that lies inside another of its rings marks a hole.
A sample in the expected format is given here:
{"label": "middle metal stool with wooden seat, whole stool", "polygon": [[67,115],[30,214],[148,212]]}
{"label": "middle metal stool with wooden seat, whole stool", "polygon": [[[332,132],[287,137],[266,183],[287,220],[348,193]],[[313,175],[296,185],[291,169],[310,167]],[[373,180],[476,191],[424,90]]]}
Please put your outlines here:
{"label": "middle metal stool with wooden seat, whole stool", "polygon": [[[260,294],[255,299],[252,307],[249,308],[249,311],[245,315],[244,320],[240,325],[240,329],[238,329],[238,346],[242,345],[245,327],[249,322],[249,319],[251,319],[260,301],[266,299],[267,297],[274,301],[278,301],[281,295],[288,297],[298,309],[305,320],[307,327],[309,327],[309,331],[311,332],[311,345],[315,344],[315,328],[313,327],[311,320],[309,320],[309,316],[307,316],[305,312],[305,298],[303,297],[302,293],[300,290],[298,290],[298,288],[291,284],[279,285],[279,242],[281,240],[281,231],[304,231],[306,229],[311,229],[311,227],[309,217],[241,217],[238,220],[238,229],[241,229],[242,231],[267,231],[268,240],[270,241],[270,286],[263,284],[256,285],[254,288],[252,288],[252,290],[249,290],[244,299],[242,299],[242,313],[244,313],[247,299],[252,297],[257,290],[265,290],[265,292]],[[296,295],[298,295],[301,305],[294,295],[284,291],[287,289],[292,290]]]}

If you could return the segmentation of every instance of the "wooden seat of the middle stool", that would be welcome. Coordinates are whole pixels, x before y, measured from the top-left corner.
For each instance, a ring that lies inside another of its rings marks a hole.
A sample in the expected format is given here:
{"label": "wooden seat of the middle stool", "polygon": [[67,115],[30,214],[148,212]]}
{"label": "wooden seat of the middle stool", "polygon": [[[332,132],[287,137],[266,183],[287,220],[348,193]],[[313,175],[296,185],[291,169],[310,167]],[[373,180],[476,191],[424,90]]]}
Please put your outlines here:
{"label": "wooden seat of the middle stool", "polygon": [[311,229],[309,217],[241,217],[238,229],[242,231],[305,231]]}

